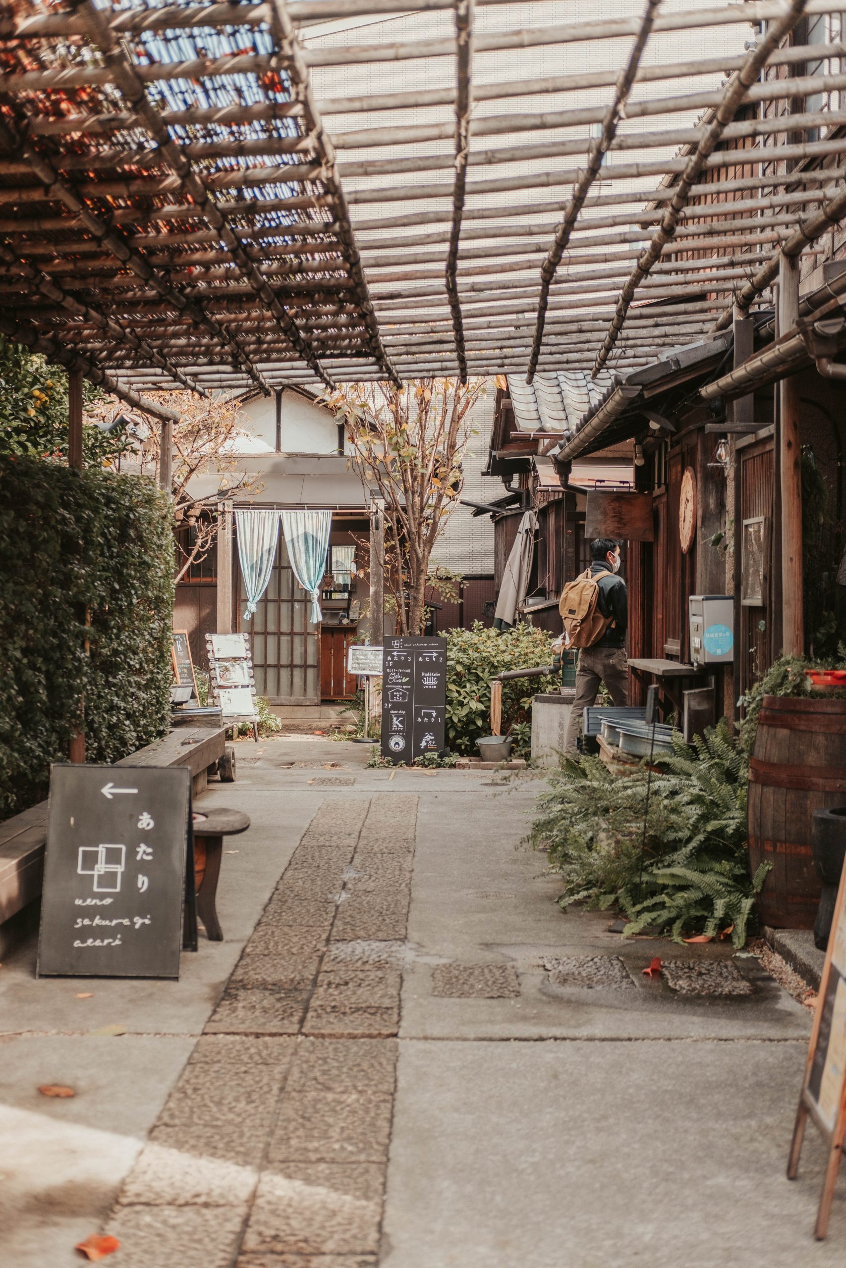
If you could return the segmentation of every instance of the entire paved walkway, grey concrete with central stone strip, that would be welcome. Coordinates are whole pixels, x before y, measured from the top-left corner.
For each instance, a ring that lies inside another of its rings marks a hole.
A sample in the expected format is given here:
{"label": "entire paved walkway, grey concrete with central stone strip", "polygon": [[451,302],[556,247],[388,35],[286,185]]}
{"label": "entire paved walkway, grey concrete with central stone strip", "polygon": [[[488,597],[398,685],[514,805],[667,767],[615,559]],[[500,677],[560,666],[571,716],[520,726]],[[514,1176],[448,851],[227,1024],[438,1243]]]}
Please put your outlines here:
{"label": "entire paved walkway, grey concrete with central stone strip", "polygon": [[367,756],[240,746],[204,801],[252,817],[226,941],[179,983],[0,969],[0,1262],[101,1229],[114,1268],[840,1265],[810,1131],[784,1179],[807,1012],[731,948],[563,917],[535,780]]}

